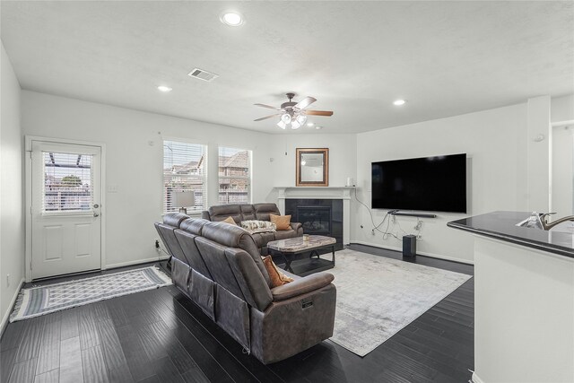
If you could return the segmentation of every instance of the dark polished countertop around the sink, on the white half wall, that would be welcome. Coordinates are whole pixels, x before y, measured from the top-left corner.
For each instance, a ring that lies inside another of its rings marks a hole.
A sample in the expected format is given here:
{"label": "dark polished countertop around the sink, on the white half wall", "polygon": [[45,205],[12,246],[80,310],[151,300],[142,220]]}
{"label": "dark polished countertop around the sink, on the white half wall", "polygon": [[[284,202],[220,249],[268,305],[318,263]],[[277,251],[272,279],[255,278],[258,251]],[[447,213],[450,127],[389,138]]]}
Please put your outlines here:
{"label": "dark polished countertop around the sink, on the white half wall", "polygon": [[518,227],[528,212],[492,212],[448,222],[451,228],[574,258],[574,233]]}

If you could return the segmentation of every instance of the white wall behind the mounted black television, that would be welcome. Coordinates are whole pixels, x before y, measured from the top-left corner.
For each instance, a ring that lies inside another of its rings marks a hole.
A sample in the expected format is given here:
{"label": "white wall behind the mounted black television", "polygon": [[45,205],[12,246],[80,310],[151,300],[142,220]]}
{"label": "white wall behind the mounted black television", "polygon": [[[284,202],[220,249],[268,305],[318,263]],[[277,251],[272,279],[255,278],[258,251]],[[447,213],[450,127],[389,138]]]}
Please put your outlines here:
{"label": "white wall behind the mounted black television", "polygon": [[[465,214],[437,213],[422,219],[422,240],[417,253],[473,262],[473,240],[447,227],[447,222],[496,210],[525,210],[523,190],[526,164],[526,104],[491,109],[453,118],[441,118],[408,126],[397,126],[357,136],[357,182],[359,198],[370,205],[370,163],[439,154],[467,153],[470,159],[469,209]],[[400,250],[402,242],[383,239],[372,224],[367,209],[353,205],[352,241]],[[375,222],[386,211],[374,210]],[[396,217],[398,224],[414,233],[416,219]],[[361,229],[360,225],[363,225]],[[398,225],[391,231],[404,234]]]}

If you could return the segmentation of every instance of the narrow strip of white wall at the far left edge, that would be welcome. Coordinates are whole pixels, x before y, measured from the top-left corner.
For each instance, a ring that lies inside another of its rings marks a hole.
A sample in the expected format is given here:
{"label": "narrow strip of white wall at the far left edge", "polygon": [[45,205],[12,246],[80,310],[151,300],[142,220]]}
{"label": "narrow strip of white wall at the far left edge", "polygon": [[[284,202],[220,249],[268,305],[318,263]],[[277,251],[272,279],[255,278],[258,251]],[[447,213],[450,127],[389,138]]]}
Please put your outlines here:
{"label": "narrow strip of white wall at the far left edge", "polygon": [[[20,84],[2,45],[0,57],[0,330],[24,276]],[[6,275],[10,274],[8,284]]]}

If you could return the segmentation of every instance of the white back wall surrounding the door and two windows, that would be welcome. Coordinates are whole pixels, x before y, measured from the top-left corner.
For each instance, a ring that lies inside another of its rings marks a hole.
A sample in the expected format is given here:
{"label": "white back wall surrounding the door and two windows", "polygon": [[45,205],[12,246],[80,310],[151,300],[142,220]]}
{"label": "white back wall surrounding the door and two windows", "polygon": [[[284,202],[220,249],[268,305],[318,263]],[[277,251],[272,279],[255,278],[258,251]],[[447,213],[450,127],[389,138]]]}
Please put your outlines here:
{"label": "white back wall surrounding the door and two windows", "polygon": [[[22,91],[22,130],[24,135],[106,144],[106,182],[117,185],[117,193],[106,194],[108,267],[158,257],[153,222],[161,219],[162,137],[208,144],[212,164],[217,163],[218,144],[252,150],[253,201],[269,201],[274,186],[275,167],[269,161],[275,156],[273,135],[34,91]],[[209,204],[215,205],[216,178],[209,187]]]}

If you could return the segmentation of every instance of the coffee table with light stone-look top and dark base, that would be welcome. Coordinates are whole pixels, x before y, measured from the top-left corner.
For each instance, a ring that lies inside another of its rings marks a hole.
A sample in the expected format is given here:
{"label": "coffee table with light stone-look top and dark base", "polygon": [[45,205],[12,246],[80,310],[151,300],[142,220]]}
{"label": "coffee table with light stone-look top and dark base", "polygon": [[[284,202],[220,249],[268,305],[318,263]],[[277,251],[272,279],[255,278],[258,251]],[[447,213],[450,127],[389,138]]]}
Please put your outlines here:
{"label": "coffee table with light stone-look top and dark base", "polygon": [[[335,267],[335,243],[335,238],[309,235],[309,240],[303,240],[303,237],[273,240],[267,243],[267,250],[272,256],[283,257],[285,260],[284,270],[303,276]],[[321,248],[331,248],[331,260],[319,257],[317,250]],[[298,256],[309,251],[309,262],[297,265],[294,270],[291,263]]]}

